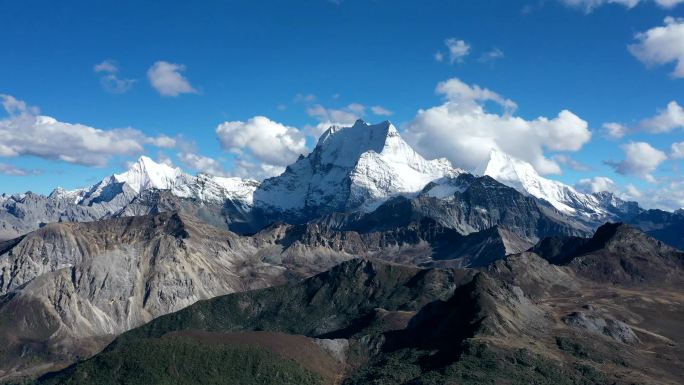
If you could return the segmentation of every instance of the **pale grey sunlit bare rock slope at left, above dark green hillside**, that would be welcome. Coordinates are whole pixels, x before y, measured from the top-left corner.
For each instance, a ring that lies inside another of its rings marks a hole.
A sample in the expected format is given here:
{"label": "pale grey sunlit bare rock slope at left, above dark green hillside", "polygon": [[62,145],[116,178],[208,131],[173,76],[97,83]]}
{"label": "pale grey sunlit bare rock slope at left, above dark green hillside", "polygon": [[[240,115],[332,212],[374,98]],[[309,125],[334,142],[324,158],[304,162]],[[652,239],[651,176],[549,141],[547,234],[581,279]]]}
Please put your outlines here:
{"label": "pale grey sunlit bare rock slope at left, above dark green hillside", "polygon": [[5,375],[69,363],[197,300],[290,277],[258,258],[254,239],[173,213],[52,224],[13,243],[0,256]]}

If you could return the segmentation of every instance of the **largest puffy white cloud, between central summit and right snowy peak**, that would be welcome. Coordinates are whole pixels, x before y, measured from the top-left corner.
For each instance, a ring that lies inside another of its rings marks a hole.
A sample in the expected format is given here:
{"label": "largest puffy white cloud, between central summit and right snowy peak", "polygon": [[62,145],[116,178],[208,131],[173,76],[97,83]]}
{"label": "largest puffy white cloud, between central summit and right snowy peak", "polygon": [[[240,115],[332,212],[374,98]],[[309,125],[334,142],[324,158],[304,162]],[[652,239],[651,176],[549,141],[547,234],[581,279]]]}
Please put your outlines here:
{"label": "largest puffy white cloud, between central summit and right snowy peak", "polygon": [[[587,122],[568,110],[551,119],[525,120],[512,114],[512,100],[487,88],[450,79],[436,91],[445,102],[418,111],[406,139],[424,155],[446,157],[458,167],[474,170],[498,149],[531,163],[540,173],[557,174],[560,165],[544,151],[578,151],[591,139]],[[486,102],[500,105],[503,112],[488,112]]]}

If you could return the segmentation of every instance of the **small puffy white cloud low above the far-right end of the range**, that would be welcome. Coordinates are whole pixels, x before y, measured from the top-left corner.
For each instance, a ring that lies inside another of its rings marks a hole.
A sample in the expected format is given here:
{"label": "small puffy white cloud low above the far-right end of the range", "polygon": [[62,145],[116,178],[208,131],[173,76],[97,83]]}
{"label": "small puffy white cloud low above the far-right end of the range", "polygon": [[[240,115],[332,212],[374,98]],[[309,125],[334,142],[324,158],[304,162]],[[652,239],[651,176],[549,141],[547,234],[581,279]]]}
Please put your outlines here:
{"label": "small puffy white cloud low above the far-right end of the range", "polygon": [[646,142],[630,142],[622,145],[625,159],[621,162],[606,162],[623,175],[635,175],[646,181],[655,182],[652,173],[667,159],[664,152]]}

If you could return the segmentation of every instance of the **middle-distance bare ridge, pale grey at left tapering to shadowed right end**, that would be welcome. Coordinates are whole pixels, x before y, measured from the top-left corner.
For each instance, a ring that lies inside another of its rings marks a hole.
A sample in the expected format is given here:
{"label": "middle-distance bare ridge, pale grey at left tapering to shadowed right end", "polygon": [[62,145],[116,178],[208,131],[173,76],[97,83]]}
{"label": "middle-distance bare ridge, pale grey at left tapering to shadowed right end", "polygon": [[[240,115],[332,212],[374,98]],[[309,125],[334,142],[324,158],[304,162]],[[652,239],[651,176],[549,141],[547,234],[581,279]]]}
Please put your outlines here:
{"label": "middle-distance bare ridge, pale grey at left tapering to shadowed right end", "polygon": [[315,223],[253,236],[163,212],[50,224],[0,243],[2,376],[40,372],[197,300],[271,286],[356,257],[484,266],[527,247],[503,227],[461,235],[423,218],[385,231]]}

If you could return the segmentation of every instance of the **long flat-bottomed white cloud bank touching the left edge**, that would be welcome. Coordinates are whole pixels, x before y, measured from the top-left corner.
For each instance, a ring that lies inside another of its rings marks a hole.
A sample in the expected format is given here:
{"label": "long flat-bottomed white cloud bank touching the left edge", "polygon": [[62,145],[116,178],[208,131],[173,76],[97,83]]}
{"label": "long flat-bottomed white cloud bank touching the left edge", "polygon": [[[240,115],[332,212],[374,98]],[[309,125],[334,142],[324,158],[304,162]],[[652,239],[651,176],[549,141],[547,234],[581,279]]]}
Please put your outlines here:
{"label": "long flat-bottomed white cloud bank touching the left edge", "polygon": [[[8,116],[0,120],[0,156],[33,155],[86,166],[104,166],[112,156],[139,155],[147,137],[132,128],[103,130],[60,122],[9,95],[0,95]],[[168,144],[168,143],[166,143]]]}

